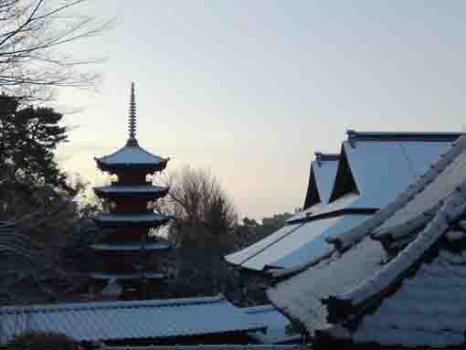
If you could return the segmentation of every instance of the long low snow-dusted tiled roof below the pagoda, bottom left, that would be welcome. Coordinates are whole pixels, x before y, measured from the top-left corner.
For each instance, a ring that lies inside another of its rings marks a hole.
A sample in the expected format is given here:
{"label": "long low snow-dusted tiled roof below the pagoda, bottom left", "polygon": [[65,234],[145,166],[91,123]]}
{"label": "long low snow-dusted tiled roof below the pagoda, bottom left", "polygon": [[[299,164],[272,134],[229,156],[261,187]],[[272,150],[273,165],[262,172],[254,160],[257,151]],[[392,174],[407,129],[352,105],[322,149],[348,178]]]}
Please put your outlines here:
{"label": "long low snow-dusted tiled roof below the pagoda, bottom left", "polygon": [[[5,344],[25,331],[65,334],[77,341],[169,338],[265,329],[221,296],[140,302],[86,302],[0,308]],[[199,317],[202,315],[202,317]]]}

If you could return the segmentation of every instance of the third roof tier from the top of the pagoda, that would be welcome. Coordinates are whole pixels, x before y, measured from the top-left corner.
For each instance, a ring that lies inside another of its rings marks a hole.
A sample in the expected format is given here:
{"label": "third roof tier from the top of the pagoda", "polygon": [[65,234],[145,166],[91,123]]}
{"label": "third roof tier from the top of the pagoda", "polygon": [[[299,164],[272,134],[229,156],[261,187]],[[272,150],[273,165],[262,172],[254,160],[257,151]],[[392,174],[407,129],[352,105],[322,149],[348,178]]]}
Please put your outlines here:
{"label": "third roof tier from the top of the pagoda", "polygon": [[139,226],[152,228],[162,225],[170,220],[162,214],[145,213],[145,214],[101,214],[98,217],[93,217],[101,226],[121,227],[121,226]]}

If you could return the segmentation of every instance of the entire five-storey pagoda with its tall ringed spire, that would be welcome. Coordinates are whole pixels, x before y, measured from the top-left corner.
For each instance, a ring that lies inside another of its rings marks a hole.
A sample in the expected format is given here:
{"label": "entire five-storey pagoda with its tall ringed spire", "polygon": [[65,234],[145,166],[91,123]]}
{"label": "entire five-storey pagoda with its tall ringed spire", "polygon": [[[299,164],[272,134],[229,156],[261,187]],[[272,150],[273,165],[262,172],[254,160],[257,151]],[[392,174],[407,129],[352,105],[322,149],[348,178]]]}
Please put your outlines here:
{"label": "entire five-storey pagoda with its tall ringed spire", "polygon": [[154,212],[154,201],[164,197],[168,188],[152,185],[146,176],[164,170],[168,158],[147,152],[136,140],[134,84],[127,143],[95,161],[102,172],[117,180],[110,186],[94,187],[108,212],[93,217],[103,232],[103,239],[90,246],[94,257],[90,278],[117,282],[121,288],[131,286],[137,291],[138,286],[164,278],[157,257],[170,244],[151,232],[170,217]]}

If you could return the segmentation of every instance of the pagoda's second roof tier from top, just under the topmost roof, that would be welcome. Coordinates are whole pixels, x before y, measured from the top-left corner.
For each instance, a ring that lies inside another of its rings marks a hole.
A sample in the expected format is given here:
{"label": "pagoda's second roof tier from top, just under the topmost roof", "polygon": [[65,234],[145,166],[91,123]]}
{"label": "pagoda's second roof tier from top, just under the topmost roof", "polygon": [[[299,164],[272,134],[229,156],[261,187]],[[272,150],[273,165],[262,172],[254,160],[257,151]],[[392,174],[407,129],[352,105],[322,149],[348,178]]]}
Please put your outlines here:
{"label": "pagoda's second roof tier from top, just under the topmost roof", "polygon": [[103,198],[115,197],[142,197],[142,198],[160,198],[168,193],[167,187],[142,185],[142,186],[125,186],[111,185],[94,187],[94,192],[97,196]]}

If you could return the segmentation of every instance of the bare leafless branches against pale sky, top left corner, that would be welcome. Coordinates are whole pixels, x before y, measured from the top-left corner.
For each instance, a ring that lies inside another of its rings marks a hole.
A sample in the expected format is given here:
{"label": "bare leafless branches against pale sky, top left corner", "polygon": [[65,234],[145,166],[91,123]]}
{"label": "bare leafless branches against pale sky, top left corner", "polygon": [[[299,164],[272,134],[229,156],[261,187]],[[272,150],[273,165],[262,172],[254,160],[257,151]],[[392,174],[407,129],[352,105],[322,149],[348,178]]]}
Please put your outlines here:
{"label": "bare leafless branches against pale sky, top left corner", "polygon": [[90,86],[98,74],[83,72],[84,63],[62,49],[96,36],[111,26],[78,14],[86,0],[0,0],[0,88],[28,99],[47,99],[50,87]]}

